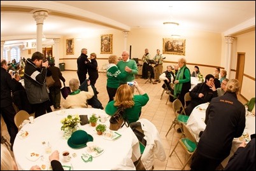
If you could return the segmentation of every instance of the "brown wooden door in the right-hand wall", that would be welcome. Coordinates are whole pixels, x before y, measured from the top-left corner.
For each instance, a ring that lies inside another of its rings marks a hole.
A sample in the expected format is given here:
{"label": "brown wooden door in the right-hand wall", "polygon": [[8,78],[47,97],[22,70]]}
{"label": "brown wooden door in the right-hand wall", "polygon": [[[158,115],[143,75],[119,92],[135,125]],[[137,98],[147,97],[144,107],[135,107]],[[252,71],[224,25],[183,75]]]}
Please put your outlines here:
{"label": "brown wooden door in the right-hand wall", "polygon": [[238,79],[240,83],[239,93],[241,93],[241,89],[242,89],[244,69],[245,69],[245,53],[238,52],[238,60],[236,62],[236,79]]}

